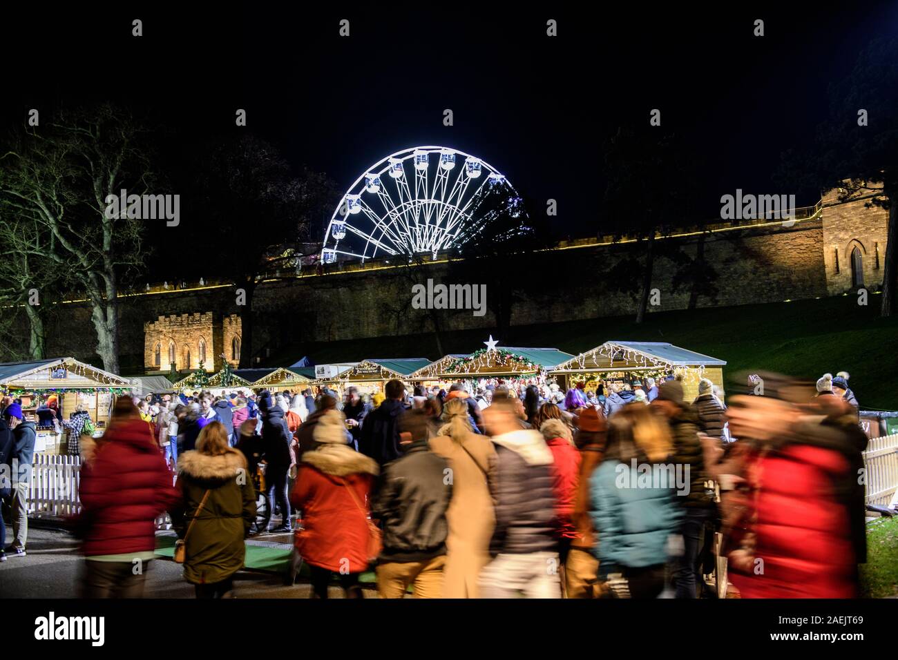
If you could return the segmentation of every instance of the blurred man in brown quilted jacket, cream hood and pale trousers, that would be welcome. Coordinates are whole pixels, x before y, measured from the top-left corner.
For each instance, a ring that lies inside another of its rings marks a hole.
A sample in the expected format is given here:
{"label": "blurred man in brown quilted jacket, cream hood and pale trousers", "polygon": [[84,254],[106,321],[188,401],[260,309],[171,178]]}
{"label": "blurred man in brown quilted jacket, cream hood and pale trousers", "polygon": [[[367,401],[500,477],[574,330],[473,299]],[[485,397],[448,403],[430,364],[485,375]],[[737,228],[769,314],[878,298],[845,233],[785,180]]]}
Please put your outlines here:
{"label": "blurred man in brown quilted jacket, cream hood and pale trousers", "polygon": [[496,526],[480,596],[559,598],[552,453],[539,431],[521,427],[515,400],[497,392],[483,416],[496,450],[489,480]]}

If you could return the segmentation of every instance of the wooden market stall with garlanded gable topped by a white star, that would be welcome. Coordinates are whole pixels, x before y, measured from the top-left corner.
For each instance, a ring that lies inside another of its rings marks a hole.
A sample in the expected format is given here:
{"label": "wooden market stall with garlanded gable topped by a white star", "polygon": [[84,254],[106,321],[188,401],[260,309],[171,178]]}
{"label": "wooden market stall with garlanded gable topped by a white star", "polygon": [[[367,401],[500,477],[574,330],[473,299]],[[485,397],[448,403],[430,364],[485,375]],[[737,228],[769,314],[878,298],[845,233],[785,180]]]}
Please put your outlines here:
{"label": "wooden market stall with garlanded gable topped by a white star", "polygon": [[551,369],[572,357],[558,348],[480,348],[468,355],[441,357],[410,374],[409,380],[428,388],[437,385],[445,390],[458,381],[471,381],[475,389],[499,381],[512,385],[543,385]]}

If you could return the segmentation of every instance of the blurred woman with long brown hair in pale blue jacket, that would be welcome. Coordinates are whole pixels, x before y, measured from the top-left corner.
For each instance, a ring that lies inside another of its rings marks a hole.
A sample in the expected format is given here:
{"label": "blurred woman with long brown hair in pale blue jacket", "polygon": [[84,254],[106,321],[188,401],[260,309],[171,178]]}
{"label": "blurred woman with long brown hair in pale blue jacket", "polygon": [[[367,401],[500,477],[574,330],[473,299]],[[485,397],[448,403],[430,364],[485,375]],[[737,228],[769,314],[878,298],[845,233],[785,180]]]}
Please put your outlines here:
{"label": "blurred woman with long brown hair in pale blue jacket", "polygon": [[[682,515],[664,469],[674,444],[665,423],[641,405],[608,418],[607,438],[603,462],[590,477],[599,575],[618,597],[657,598],[665,587],[668,538]],[[640,482],[646,473],[649,483]]]}

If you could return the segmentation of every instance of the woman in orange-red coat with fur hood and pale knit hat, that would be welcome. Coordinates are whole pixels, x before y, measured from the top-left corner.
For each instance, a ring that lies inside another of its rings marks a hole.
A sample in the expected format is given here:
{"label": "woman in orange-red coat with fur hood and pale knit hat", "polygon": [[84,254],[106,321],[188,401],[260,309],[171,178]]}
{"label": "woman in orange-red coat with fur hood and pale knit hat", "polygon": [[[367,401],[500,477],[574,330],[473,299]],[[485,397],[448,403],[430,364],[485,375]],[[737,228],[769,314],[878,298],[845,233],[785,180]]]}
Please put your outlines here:
{"label": "woman in orange-red coat with fur hood and pale knit hat", "polygon": [[328,597],[330,574],[339,573],[348,598],[361,597],[358,574],[368,567],[368,493],[377,463],[346,443],[343,413],[328,410],[315,425],[314,448],[300,458],[291,503],[303,512],[295,534],[312,568],[313,596]]}

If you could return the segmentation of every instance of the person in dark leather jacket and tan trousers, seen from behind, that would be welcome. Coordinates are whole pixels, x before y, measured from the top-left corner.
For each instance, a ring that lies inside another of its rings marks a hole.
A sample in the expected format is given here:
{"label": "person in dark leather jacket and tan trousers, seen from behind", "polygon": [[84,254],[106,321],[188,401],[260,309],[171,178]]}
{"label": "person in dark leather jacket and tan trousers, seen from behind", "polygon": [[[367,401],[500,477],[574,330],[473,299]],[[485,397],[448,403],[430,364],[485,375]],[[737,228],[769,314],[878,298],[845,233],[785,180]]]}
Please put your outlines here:
{"label": "person in dark leather jacket and tan trousers, seen from behind", "polygon": [[402,455],[383,466],[372,507],[383,525],[377,591],[381,598],[402,598],[414,585],[415,598],[440,598],[454,475],[445,458],[430,451],[430,420],[423,410],[410,410],[400,425],[406,436]]}

